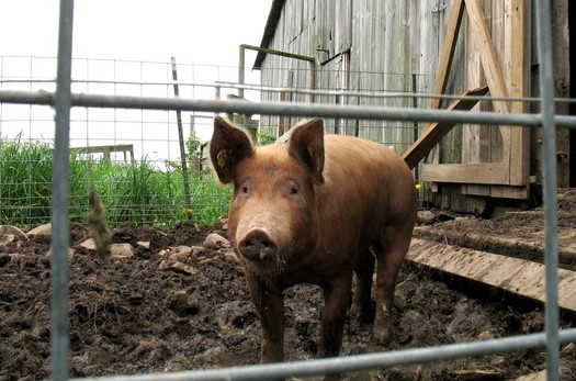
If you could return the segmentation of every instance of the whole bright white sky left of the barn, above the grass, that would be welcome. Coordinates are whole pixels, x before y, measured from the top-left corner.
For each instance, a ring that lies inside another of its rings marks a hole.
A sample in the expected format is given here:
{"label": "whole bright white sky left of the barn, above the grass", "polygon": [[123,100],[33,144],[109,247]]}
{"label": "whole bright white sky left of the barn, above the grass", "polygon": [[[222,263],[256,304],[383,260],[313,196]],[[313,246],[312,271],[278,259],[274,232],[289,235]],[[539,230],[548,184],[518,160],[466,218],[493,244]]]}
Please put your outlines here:
{"label": "whole bright white sky left of the barn, above the grass", "polygon": [[[237,79],[238,46],[260,45],[272,0],[79,0],[75,3],[75,58],[169,63],[176,57],[179,80],[182,82],[214,83],[216,80]],[[12,56],[55,57],[58,40],[57,0],[0,0],[0,77],[54,77],[55,60],[16,59]],[[11,57],[11,58],[5,58]],[[249,68],[256,58],[247,52]],[[194,66],[189,65],[194,64]],[[200,65],[200,66],[197,66]],[[206,65],[205,67],[203,65]],[[144,67],[144,68],[143,68]],[[77,61],[72,77],[77,79],[168,81],[167,65],[114,61]],[[157,70],[158,69],[158,70]],[[155,70],[159,74],[155,74]],[[248,83],[257,82],[259,72],[247,71]],[[52,85],[0,83],[2,89],[54,90]],[[75,85],[75,92],[122,93],[171,97],[171,88],[106,87]],[[207,91],[207,92],[206,92]],[[181,97],[214,98],[214,89],[182,87]],[[0,105],[0,135],[12,137],[22,132],[26,138],[54,136],[52,110],[27,105]],[[46,116],[49,114],[49,116]],[[132,116],[126,116],[132,115]],[[176,138],[174,112],[116,111],[74,109],[72,119],[83,120],[71,125],[71,146],[125,144],[135,137],[135,156],[176,159],[179,153]],[[140,124],[139,131],[127,132],[122,123],[111,120],[132,119],[158,121]],[[188,136],[190,113],[182,116]],[[27,121],[26,121],[27,120]],[[108,123],[94,124],[90,120]],[[207,122],[204,122],[207,123]],[[167,128],[167,125],[170,127]],[[169,130],[167,134],[167,130]],[[210,128],[211,130],[211,128]],[[201,138],[210,137],[208,128],[196,130]],[[76,141],[75,141],[76,139]],[[112,141],[111,141],[112,139]],[[171,142],[165,144],[162,141]],[[126,141],[126,142],[124,142]],[[147,142],[150,141],[150,142]],[[75,143],[76,142],[76,143]]]}

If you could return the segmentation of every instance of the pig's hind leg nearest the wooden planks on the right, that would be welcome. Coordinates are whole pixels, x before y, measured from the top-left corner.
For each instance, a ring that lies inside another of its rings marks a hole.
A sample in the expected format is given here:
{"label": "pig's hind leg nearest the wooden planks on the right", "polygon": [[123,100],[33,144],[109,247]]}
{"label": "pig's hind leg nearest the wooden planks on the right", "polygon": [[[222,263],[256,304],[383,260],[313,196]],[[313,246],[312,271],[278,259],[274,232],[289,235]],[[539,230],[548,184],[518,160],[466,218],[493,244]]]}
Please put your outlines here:
{"label": "pig's hind leg nearest the wooden planks on the right", "polygon": [[374,343],[387,345],[392,340],[392,303],[396,278],[408,251],[414,223],[386,226],[376,244],[376,314]]}

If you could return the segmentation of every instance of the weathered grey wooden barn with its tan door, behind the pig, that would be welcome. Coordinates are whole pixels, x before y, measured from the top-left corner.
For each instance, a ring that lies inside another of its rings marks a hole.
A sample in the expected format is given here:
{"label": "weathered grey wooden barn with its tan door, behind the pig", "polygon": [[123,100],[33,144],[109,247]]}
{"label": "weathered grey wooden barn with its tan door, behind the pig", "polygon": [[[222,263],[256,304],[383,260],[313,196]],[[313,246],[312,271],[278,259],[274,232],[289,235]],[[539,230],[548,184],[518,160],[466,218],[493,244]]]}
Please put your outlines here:
{"label": "weathered grey wooden barn with its tan door, behind the pig", "polygon": [[[556,97],[571,98],[574,29],[568,25],[574,7],[568,0],[553,4]],[[274,0],[253,63],[262,86],[271,87],[262,101],[538,112],[539,103],[526,99],[539,94],[534,8],[529,0]],[[496,99],[466,102],[425,96],[430,93],[487,93]],[[569,103],[557,102],[557,112],[569,113]],[[262,115],[260,126],[281,135],[296,120]],[[326,122],[328,132],[394,145],[402,154],[427,128],[438,127]],[[448,130],[415,167],[428,201],[474,213],[495,202],[538,201],[540,130],[472,124]],[[558,186],[574,187],[574,128],[557,131],[557,148]]]}

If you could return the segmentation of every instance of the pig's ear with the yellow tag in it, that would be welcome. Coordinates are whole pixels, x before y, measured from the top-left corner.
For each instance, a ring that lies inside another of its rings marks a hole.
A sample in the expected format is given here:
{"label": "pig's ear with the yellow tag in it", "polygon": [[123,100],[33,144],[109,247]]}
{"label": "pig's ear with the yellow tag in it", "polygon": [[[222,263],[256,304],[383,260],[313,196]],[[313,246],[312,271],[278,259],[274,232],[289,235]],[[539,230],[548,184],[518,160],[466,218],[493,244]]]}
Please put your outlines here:
{"label": "pig's ear with the yellow tag in it", "polygon": [[212,166],[223,183],[228,183],[236,177],[238,164],[251,157],[255,145],[250,136],[230,121],[214,117],[214,133],[210,142],[210,158]]}

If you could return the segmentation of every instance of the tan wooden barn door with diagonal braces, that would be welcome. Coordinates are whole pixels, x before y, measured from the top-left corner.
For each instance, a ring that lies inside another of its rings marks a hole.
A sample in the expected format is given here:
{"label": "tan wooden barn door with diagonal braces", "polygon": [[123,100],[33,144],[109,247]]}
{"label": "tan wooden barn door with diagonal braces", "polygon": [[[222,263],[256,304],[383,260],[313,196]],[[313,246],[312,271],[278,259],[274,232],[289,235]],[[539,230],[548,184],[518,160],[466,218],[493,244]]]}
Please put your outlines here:
{"label": "tan wooden barn door with diagonal braces", "polygon": [[[490,96],[496,98],[530,94],[529,7],[526,0],[455,0],[452,3],[453,22],[449,22],[452,30],[447,32],[445,40],[449,44],[455,44],[459,31],[464,30],[463,15],[467,16],[465,35],[461,36],[466,38],[466,89],[487,85]],[[438,93],[445,89],[450,66],[442,63],[450,63],[451,57],[445,55],[453,52],[453,47],[444,46],[434,87]],[[432,107],[440,105],[439,102],[432,103]],[[482,101],[473,110],[522,113],[529,111],[529,105],[498,99]],[[422,166],[425,181],[456,183],[464,194],[528,198],[528,128],[464,125],[462,146],[442,149],[461,149],[461,163],[440,163],[437,149],[434,164]]]}

